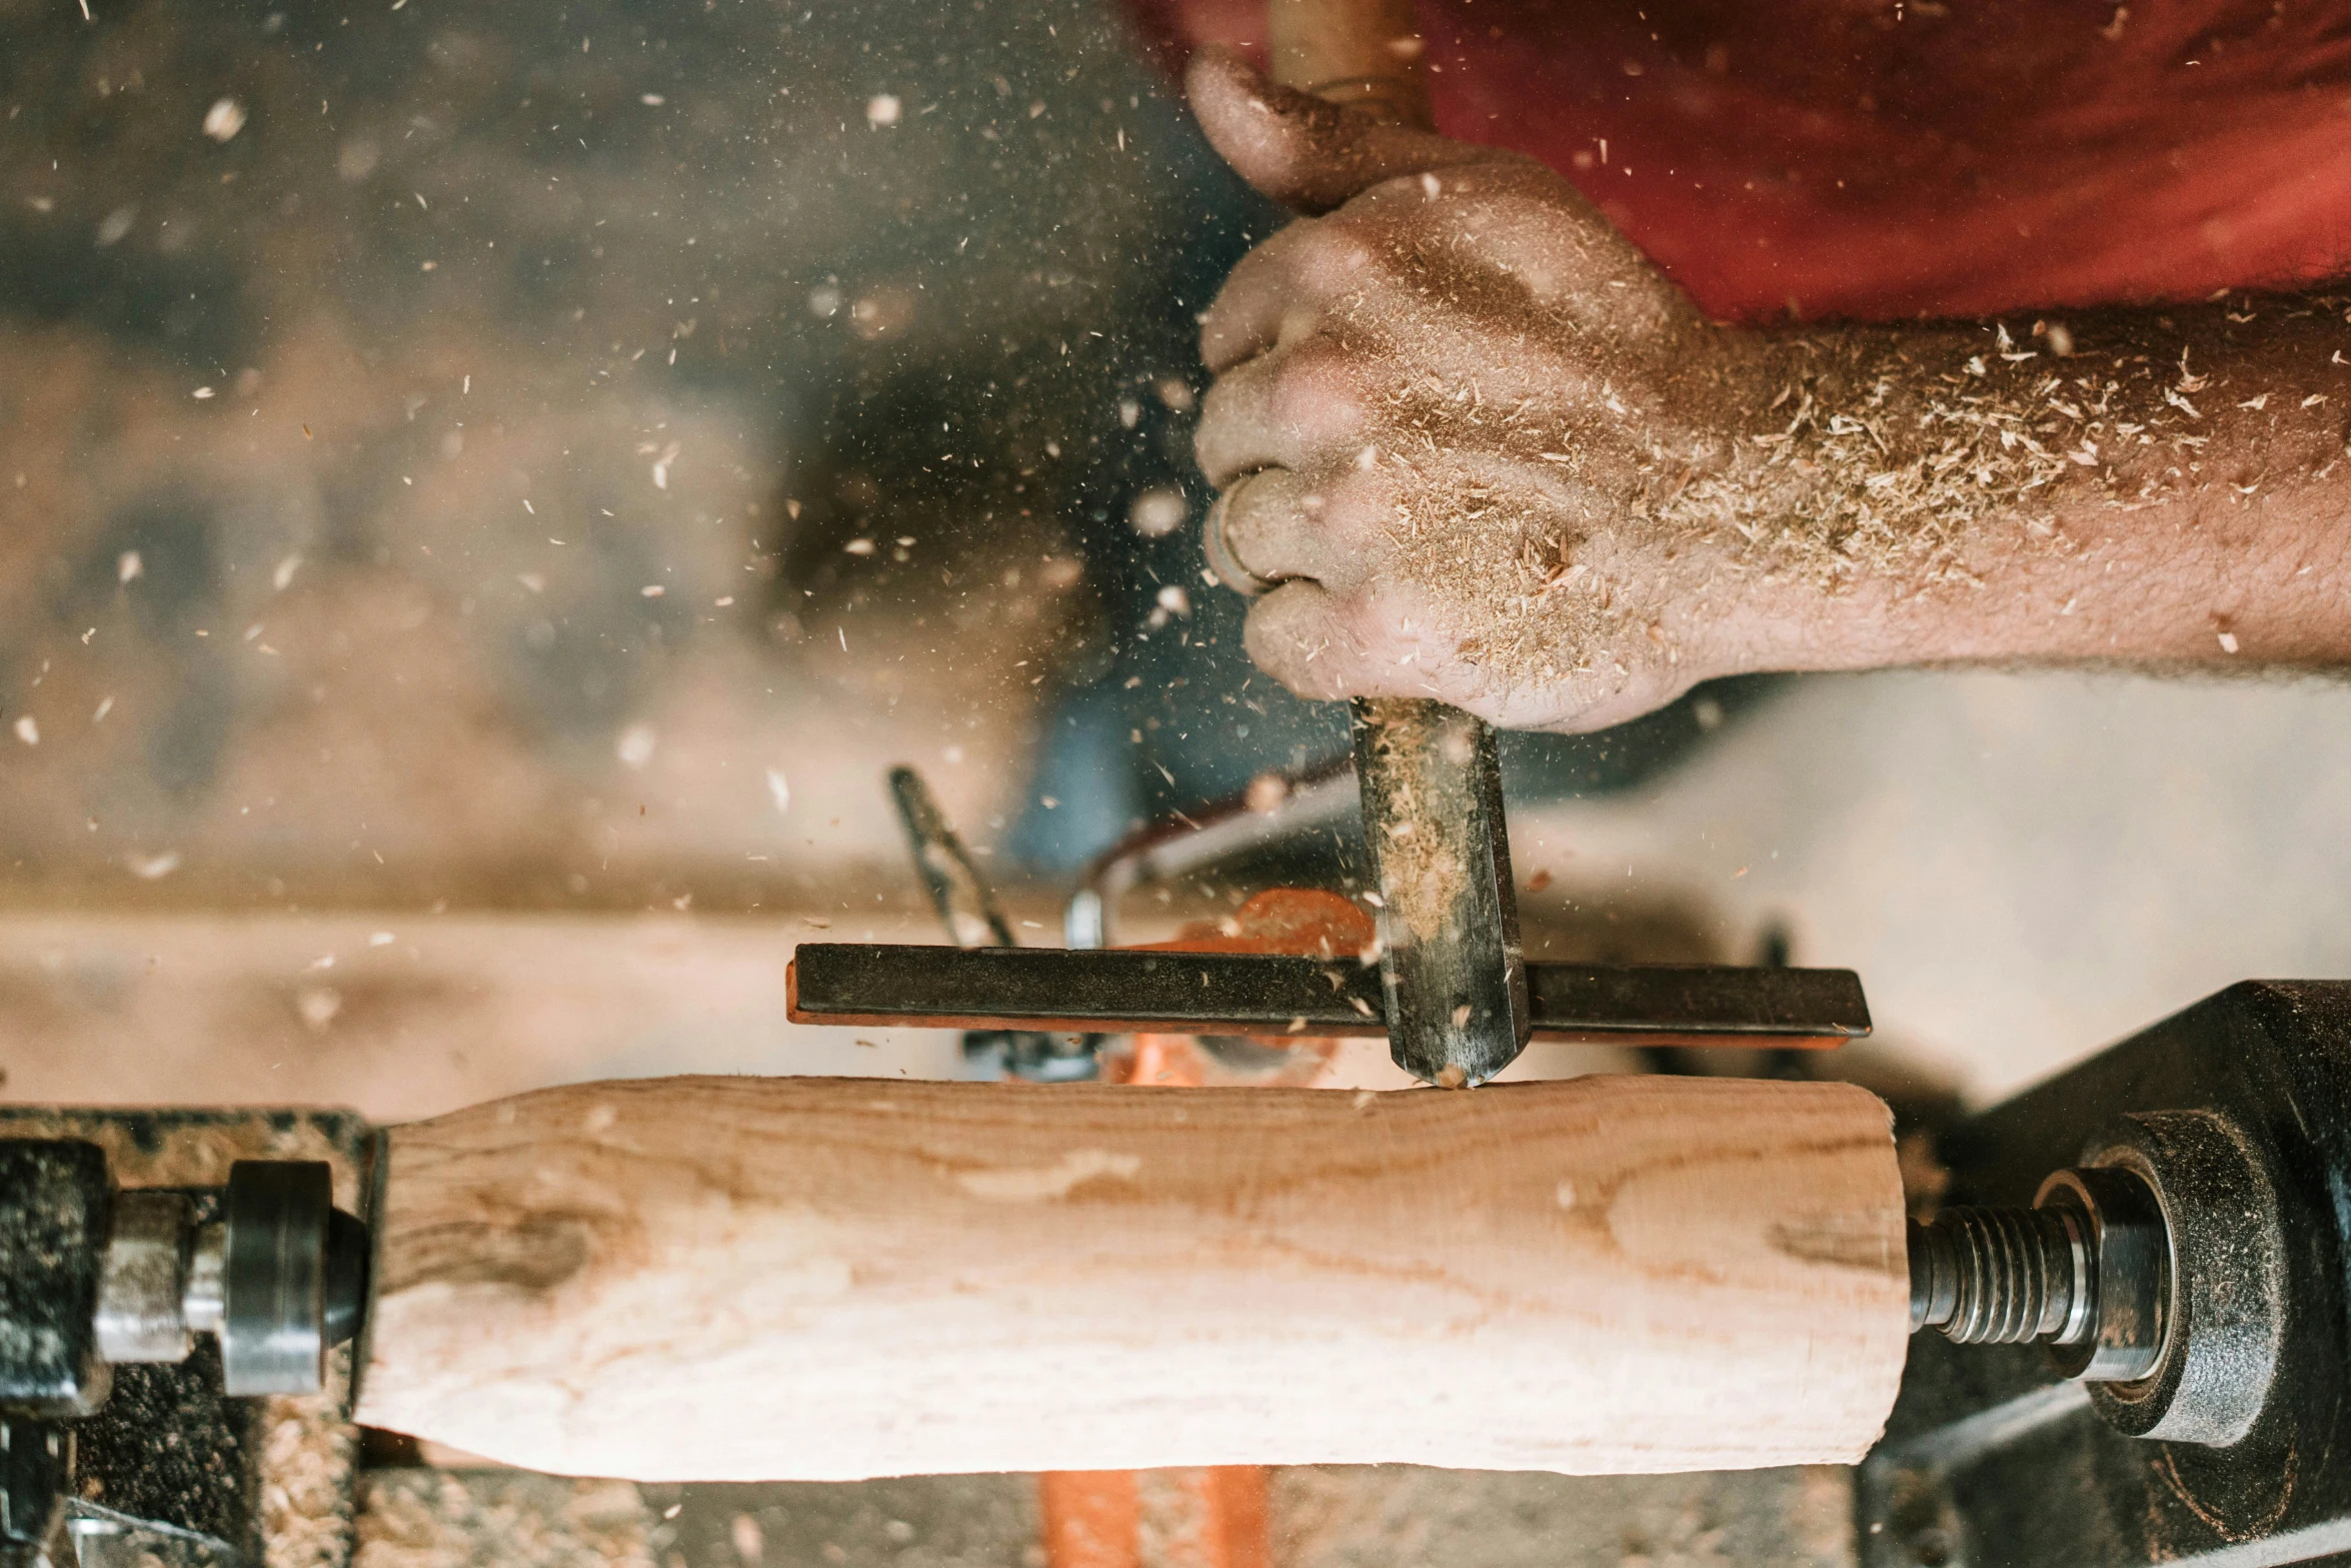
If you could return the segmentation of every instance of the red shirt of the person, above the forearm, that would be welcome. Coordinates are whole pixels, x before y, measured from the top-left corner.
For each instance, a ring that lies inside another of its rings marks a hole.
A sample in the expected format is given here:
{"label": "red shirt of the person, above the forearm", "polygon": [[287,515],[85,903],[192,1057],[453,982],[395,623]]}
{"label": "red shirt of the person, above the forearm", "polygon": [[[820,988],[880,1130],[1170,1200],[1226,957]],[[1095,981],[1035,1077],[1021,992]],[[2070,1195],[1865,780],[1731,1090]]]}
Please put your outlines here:
{"label": "red shirt of the person, above the forearm", "polygon": [[[1140,0],[1258,49],[1253,0]],[[1575,181],[1726,320],[2351,270],[2351,0],[1420,0],[1439,127]],[[1260,49],[1262,56],[1262,49]]]}

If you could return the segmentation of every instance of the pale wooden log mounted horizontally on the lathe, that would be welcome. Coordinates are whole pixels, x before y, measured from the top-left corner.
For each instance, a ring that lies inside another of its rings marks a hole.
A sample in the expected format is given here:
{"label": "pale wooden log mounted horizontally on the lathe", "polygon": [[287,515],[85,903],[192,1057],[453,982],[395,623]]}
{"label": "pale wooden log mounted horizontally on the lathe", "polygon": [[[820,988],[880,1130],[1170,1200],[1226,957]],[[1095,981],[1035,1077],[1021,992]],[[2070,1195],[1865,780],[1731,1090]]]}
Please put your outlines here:
{"label": "pale wooden log mounted horizontally on the lathe", "polygon": [[1909,1328],[1886,1107],[585,1084],[393,1128],[357,1418],[639,1481],[1850,1462]]}

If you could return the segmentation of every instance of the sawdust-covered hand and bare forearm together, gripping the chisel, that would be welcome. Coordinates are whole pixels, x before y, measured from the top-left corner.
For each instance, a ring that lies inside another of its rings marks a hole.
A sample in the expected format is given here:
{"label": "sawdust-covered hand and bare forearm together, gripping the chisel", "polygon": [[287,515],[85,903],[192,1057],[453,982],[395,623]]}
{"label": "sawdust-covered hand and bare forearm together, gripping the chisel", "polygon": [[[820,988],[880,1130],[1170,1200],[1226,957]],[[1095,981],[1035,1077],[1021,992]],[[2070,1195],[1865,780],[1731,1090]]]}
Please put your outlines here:
{"label": "sawdust-covered hand and bare forearm together, gripping the chisel", "polygon": [[1208,522],[1302,696],[1599,729],[1744,670],[2351,663],[2344,301],[1735,331],[1540,165],[1223,52],[1190,94],[1321,214],[1201,329]]}

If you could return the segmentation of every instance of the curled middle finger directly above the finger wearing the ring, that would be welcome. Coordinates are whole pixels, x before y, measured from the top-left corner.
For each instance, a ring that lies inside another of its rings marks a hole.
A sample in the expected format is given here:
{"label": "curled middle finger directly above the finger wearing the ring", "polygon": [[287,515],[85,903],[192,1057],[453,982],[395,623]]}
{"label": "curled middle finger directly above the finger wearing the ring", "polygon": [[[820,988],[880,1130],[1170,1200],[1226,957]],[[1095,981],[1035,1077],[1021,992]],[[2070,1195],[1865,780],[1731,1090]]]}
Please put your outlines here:
{"label": "curled middle finger directly above the finger wearing the ring", "polygon": [[1201,400],[1192,451],[1208,484],[1244,473],[1317,473],[1364,447],[1368,367],[1333,339],[1314,336],[1237,364]]}

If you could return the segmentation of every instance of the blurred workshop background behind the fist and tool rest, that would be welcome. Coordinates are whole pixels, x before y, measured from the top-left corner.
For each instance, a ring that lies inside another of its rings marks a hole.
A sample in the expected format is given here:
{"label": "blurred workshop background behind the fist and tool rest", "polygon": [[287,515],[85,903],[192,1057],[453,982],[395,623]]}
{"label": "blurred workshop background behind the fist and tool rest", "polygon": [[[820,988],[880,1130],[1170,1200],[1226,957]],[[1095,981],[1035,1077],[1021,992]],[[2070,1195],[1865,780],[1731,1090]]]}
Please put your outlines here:
{"label": "blurred workshop background behind the fist and tool rest", "polygon": [[[7,1098],[966,1072],[783,1023],[795,938],[936,933],[891,764],[1058,940],[1131,825],[1342,750],[1197,557],[1194,313],[1279,214],[1112,7],[0,28]],[[1514,738],[1531,945],[1860,969],[1982,1100],[2351,966],[2346,719],[1977,670]]]}

